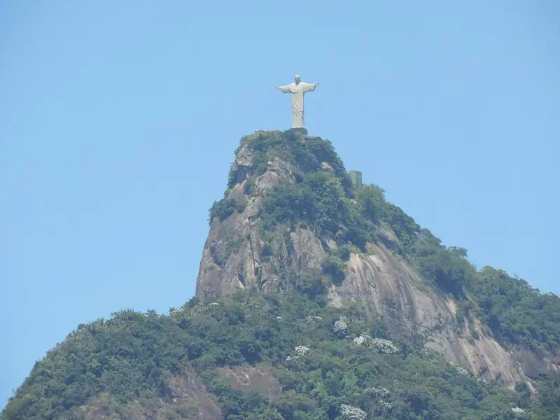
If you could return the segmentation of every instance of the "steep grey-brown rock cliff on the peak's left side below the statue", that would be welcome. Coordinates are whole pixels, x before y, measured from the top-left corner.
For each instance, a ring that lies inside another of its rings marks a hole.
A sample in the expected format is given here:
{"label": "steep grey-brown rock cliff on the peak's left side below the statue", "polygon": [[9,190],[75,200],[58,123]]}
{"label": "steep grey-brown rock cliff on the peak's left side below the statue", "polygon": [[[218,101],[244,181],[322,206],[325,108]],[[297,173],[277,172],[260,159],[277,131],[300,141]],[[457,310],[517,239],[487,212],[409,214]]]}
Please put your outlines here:
{"label": "steep grey-brown rock cliff on the peak's left side below the statue", "polygon": [[[255,134],[256,135],[256,134]],[[274,292],[286,287],[281,277],[274,273],[272,262],[279,262],[287,255],[286,241],[276,240],[272,246],[274,259],[263,258],[263,248],[267,242],[262,238],[258,214],[262,197],[267,190],[278,185],[282,180],[295,182],[297,168],[290,168],[288,163],[278,158],[267,161],[266,172],[255,179],[256,195],[246,194],[245,174],[253,167],[251,148],[247,143],[241,144],[237,151],[232,173],[237,176],[237,183],[227,194],[231,200],[246,201],[241,213],[235,211],[224,221],[215,217],[211,221],[210,233],[200,262],[197,277],[197,297],[209,300],[212,297],[232,293],[238,288],[258,286],[262,290]],[[295,253],[302,258],[302,264],[310,262],[318,267],[323,253],[320,242],[310,232],[298,230]],[[305,240],[307,238],[307,241]],[[311,244],[309,241],[313,241]],[[307,260],[306,260],[307,258]],[[312,266],[311,265],[311,266]],[[295,267],[290,267],[293,269]]]}

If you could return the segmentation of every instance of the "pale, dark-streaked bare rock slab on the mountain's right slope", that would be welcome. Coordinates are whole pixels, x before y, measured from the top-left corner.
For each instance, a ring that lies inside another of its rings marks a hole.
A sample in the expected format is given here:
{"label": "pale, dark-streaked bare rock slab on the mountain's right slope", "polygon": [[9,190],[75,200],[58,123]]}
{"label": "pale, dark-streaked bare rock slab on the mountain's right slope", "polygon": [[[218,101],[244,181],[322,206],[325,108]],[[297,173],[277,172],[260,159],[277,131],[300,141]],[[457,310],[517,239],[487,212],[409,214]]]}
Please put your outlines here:
{"label": "pale, dark-streaked bare rock slab on the mountain's right slope", "polygon": [[514,355],[480,330],[471,337],[468,327],[458,335],[452,297],[437,293],[406,263],[380,244],[370,244],[372,255],[352,254],[342,285],[331,286],[330,303],[356,300],[386,321],[395,338],[421,337],[424,346],[469,367],[486,379],[512,385],[525,379]]}

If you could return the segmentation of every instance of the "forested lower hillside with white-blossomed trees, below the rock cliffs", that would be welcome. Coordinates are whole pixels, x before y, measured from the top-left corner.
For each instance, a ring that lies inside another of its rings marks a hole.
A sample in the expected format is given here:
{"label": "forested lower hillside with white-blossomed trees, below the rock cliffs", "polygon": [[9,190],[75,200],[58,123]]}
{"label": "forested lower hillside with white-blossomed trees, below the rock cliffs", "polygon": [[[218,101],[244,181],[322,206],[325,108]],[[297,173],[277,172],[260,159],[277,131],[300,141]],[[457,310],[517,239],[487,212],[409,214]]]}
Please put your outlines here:
{"label": "forested lower hillside with white-blossomed trees, below the rock cliffs", "polygon": [[[195,419],[195,401],[174,405],[167,391],[170,377],[194,370],[228,420],[557,419],[559,377],[531,400],[524,386],[507,391],[383,339],[383,323],[360,307],[321,307],[295,291],[193,299],[167,316],[120,311],[80,325],[36,363],[2,418],[84,419],[89,403],[96,419]],[[218,370],[246,363],[278,379],[281,395],[239,391]]]}

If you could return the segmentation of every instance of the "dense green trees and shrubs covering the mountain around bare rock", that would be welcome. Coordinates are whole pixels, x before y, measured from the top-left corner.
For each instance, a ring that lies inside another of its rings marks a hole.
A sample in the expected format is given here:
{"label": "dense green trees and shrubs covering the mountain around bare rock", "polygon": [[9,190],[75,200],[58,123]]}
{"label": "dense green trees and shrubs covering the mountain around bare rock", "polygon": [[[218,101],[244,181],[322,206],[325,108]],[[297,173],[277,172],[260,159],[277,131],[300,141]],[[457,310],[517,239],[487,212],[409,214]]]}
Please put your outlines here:
{"label": "dense green trees and shrubs covering the mountain around bare rock", "polygon": [[[304,225],[334,241],[336,251],[321,267],[303,269],[279,295],[249,289],[216,302],[193,298],[167,315],[125,310],[78,325],[36,363],[3,420],[195,419],[196,398],[170,391],[193,377],[227,420],[558,419],[560,374],[539,378],[535,394],[524,383],[510,391],[427,351],[421,337],[391,337],[384,321],[366,318],[355,302],[339,309],[326,302],[328,282],[342,283],[351,254],[367,253],[375,242],[398,253],[428,287],[453,295],[460,327],[476,317],[506,347],[560,354],[559,297],[501,270],[477,270],[464,248],[442,245],[387,202],[381,188],[352,186],[328,141],[288,131],[255,134],[241,147],[251,148],[252,166],[232,167],[228,188],[244,181],[249,197],[269,162],[278,158],[293,169],[295,180],[263,197],[259,229],[275,235],[282,226]],[[209,221],[225,221],[245,206],[225,195]],[[228,238],[214,261],[223,265],[241,239]],[[273,252],[265,244],[262,262]],[[276,378],[281,394],[243,391],[223,374],[225,367],[246,365]]]}

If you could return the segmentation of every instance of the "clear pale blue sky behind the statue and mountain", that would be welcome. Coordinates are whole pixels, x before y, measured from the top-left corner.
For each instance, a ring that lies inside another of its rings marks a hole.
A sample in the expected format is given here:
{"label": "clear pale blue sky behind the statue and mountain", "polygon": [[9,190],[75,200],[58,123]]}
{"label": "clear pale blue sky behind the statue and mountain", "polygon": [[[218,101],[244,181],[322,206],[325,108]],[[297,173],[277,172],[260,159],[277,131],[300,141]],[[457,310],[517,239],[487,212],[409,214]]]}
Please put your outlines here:
{"label": "clear pale blue sky behind the statue and mountain", "polygon": [[444,244],[560,293],[560,2],[0,3],[0,407],[78,323],[195,290],[244,134],[310,134]]}

